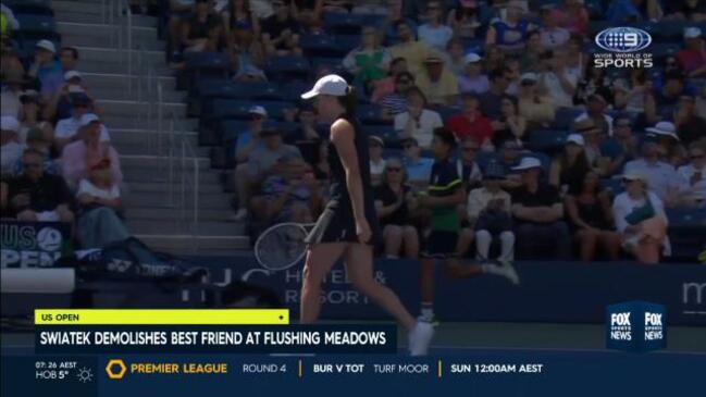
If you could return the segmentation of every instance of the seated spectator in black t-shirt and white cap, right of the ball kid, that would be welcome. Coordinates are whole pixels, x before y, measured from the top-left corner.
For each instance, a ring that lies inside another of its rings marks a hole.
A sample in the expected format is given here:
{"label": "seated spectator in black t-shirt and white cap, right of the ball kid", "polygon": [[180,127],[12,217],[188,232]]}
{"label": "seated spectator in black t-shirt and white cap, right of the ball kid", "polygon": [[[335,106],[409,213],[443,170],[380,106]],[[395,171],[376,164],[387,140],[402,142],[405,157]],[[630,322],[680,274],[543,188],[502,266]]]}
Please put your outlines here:
{"label": "seated spectator in black t-shirt and white cap, right of the ball kid", "polygon": [[569,227],[563,221],[559,191],[541,181],[542,163],[525,157],[515,171],[522,172],[522,186],[512,194],[517,250],[522,259],[571,256]]}

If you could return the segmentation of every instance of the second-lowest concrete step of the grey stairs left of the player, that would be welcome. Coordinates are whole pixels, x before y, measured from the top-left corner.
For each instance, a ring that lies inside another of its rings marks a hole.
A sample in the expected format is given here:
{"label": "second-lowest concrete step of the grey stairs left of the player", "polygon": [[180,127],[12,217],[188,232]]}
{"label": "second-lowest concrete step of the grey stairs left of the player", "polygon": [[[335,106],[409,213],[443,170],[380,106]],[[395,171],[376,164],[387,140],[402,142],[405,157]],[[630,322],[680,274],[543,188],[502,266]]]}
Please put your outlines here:
{"label": "second-lowest concrete step of the grey stairs left of the player", "polygon": [[[134,234],[185,235],[196,233],[191,225],[171,218],[162,220],[133,220],[127,218],[127,229]],[[177,215],[176,215],[177,216]],[[199,221],[198,234],[202,236],[241,236],[245,233],[241,223]]]}

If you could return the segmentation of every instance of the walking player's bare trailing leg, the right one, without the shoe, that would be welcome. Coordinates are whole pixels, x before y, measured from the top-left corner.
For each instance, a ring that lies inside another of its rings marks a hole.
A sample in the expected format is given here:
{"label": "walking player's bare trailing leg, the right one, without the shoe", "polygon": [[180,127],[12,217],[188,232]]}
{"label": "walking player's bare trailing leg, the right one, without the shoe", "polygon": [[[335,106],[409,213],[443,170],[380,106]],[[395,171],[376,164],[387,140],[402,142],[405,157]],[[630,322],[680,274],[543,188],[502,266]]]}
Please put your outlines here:
{"label": "walking player's bare trailing leg, the right one, without the shoe", "polygon": [[373,248],[364,244],[350,244],[345,252],[346,271],[350,283],[363,295],[380,305],[408,331],[417,321],[405,309],[399,298],[373,277]]}

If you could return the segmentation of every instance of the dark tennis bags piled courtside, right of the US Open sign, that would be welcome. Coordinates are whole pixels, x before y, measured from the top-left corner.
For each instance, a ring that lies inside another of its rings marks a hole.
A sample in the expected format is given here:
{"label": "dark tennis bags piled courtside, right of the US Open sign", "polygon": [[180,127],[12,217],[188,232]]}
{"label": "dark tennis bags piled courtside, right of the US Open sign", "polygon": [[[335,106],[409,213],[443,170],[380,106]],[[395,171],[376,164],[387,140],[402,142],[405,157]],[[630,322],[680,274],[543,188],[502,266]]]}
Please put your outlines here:
{"label": "dark tennis bags piled courtside, right of the US Open sign", "polygon": [[[241,281],[214,285],[208,269],[156,252],[135,237],[100,249],[77,250],[57,265],[74,268],[80,282],[98,286],[79,293],[82,307],[282,307],[276,294],[264,287]],[[124,297],[116,300],[120,295]],[[106,296],[111,299],[100,299]]]}

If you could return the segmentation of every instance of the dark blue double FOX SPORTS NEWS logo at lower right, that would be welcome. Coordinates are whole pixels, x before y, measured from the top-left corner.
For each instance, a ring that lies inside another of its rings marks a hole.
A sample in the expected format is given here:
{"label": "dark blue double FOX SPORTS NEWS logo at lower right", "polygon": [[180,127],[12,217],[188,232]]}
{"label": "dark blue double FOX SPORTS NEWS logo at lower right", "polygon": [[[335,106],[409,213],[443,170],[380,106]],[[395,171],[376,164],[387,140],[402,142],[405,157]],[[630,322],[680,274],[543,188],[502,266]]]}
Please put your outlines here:
{"label": "dark blue double FOX SPORTS NEWS logo at lower right", "polygon": [[667,310],[661,305],[631,301],[606,309],[606,347],[634,352],[667,346]]}

